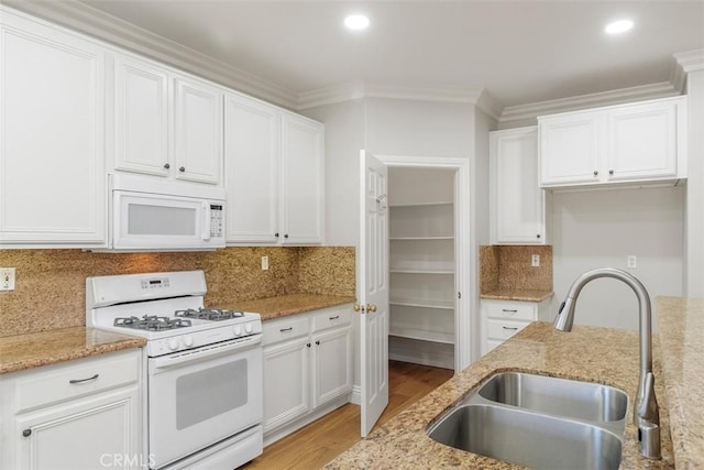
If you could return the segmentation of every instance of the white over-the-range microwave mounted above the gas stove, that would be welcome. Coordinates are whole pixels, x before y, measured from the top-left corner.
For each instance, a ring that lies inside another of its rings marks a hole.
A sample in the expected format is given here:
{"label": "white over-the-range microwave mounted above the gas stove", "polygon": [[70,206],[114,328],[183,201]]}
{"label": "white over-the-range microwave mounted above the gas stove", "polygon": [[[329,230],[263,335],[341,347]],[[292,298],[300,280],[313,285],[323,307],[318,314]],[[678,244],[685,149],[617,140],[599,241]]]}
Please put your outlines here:
{"label": "white over-the-range microwave mounted above the gas stove", "polygon": [[224,248],[223,188],[123,174],[108,175],[108,251]]}

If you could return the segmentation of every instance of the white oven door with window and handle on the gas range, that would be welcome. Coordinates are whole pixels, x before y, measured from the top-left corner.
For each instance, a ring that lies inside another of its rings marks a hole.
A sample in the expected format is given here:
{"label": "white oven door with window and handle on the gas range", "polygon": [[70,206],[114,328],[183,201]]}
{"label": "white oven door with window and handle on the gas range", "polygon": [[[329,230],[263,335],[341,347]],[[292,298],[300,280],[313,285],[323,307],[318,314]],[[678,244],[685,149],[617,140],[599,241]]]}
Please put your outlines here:
{"label": "white oven door with window and handle on the gas range", "polygon": [[261,423],[261,346],[220,346],[189,351],[178,361],[148,360],[148,452],[154,468]]}

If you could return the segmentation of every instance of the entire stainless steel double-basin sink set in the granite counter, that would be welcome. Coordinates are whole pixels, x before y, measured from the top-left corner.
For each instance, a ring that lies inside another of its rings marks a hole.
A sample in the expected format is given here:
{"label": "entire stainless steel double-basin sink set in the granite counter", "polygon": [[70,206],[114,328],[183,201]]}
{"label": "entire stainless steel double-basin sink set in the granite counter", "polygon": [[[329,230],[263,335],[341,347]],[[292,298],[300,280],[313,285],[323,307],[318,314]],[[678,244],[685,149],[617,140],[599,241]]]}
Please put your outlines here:
{"label": "entire stainless steel double-basin sink set in the granite counter", "polygon": [[536,469],[617,469],[628,395],[608,385],[502,372],[427,429],[440,444]]}

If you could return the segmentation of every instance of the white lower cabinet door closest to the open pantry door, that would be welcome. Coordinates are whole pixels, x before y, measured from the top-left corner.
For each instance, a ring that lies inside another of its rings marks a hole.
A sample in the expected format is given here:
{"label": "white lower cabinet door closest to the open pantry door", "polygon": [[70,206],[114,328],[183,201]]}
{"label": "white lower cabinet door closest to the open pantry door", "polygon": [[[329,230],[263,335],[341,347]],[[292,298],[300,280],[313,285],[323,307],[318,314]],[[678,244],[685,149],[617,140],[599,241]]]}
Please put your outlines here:
{"label": "white lower cabinet door closest to the open pantry door", "polygon": [[352,328],[315,336],[314,407],[352,391]]}

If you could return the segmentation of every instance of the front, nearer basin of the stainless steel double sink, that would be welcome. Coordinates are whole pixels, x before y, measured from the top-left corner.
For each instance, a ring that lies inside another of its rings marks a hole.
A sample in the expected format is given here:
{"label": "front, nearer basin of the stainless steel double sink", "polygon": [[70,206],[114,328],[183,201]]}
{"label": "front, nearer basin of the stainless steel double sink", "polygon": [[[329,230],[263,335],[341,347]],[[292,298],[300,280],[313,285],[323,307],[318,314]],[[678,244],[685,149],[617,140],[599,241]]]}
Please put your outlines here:
{"label": "front, nearer basin of the stainless steel double sink", "polygon": [[617,469],[622,439],[607,429],[496,405],[463,405],[429,436],[447,446],[536,469]]}

